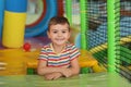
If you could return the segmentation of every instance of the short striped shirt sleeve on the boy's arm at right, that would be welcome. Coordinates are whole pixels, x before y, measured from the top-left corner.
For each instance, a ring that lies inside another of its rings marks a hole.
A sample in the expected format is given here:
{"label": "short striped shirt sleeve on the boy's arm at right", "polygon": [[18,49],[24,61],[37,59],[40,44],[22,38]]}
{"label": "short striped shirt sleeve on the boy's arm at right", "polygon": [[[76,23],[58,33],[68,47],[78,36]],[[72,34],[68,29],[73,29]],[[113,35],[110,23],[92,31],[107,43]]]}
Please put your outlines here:
{"label": "short striped shirt sleeve on the boy's arm at right", "polygon": [[79,58],[80,55],[80,50],[75,47],[75,46],[71,46],[71,49],[70,49],[70,60],[73,60],[75,58]]}

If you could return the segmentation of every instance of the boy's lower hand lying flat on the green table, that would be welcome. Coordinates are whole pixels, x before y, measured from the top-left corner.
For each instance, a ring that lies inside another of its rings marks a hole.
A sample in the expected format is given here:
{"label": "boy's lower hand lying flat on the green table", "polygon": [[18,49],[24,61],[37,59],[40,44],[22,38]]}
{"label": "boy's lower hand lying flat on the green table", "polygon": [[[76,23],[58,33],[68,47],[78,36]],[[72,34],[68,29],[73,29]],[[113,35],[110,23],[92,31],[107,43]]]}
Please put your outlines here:
{"label": "boy's lower hand lying flat on the green table", "polygon": [[46,74],[45,78],[51,80],[51,79],[57,79],[57,78],[59,78],[61,76],[62,76],[61,73],[55,72],[55,73]]}

